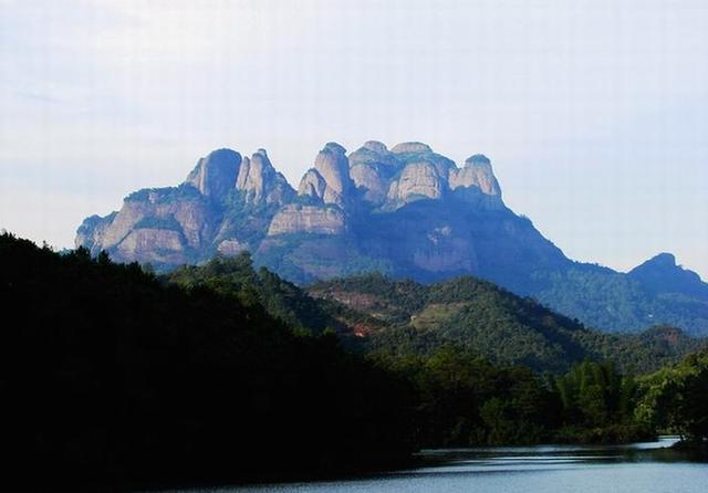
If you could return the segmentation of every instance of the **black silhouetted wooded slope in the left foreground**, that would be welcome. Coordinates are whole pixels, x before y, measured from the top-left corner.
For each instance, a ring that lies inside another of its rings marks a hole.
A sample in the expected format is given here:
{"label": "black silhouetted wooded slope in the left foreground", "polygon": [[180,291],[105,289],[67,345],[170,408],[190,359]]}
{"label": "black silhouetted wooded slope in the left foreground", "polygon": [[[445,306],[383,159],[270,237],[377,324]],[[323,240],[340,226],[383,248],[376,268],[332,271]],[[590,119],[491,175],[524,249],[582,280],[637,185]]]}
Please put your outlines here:
{"label": "black silhouetted wooded slope in the left foreground", "polygon": [[392,374],[243,298],[0,237],[3,484],[334,473],[412,451]]}

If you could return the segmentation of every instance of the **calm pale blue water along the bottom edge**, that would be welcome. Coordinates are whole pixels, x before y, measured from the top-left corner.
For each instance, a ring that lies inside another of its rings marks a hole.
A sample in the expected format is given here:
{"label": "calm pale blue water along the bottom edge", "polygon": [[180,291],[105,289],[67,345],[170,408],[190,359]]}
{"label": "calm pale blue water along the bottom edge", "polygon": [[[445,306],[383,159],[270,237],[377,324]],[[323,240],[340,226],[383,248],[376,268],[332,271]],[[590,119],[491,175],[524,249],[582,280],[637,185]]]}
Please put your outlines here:
{"label": "calm pale blue water along the bottom edge", "polygon": [[[615,447],[540,445],[424,452],[426,466],[316,483],[198,490],[206,492],[708,492],[708,463],[663,448],[676,440]],[[195,490],[196,492],[197,490]]]}

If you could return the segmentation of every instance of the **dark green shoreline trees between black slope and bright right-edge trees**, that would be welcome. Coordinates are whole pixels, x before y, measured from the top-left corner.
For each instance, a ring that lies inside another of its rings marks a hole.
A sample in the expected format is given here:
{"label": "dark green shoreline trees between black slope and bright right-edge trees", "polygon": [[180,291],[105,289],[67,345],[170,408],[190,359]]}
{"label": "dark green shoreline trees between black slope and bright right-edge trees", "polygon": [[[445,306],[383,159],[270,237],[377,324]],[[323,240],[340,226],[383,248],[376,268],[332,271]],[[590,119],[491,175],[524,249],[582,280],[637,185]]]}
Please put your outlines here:
{"label": "dark green shoreline trees between black slope and bright right-edge trees", "polygon": [[610,364],[584,361],[564,375],[539,375],[447,346],[382,365],[415,385],[421,447],[622,442],[654,433],[634,417],[641,397],[634,378]]}

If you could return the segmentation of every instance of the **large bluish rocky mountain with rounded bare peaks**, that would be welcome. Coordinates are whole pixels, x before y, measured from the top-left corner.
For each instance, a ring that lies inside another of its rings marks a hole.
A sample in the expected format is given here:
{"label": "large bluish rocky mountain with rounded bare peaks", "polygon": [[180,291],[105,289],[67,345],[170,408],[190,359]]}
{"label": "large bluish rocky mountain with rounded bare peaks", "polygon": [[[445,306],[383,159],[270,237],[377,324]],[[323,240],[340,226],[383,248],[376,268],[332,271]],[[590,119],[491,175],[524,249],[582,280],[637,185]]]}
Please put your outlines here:
{"label": "large bluish rocky mountain with rounded bare peaks", "polygon": [[[573,262],[503,202],[491,161],[423,143],[326,144],[298,189],[264,149],[219,149],[177,187],[84,220],[76,245],[160,271],[252,253],[289,281],[377,271],[418,282],[472,274],[605,331],[668,323],[708,334],[708,285],[660,255],[628,274]],[[666,276],[670,282],[664,282]]]}

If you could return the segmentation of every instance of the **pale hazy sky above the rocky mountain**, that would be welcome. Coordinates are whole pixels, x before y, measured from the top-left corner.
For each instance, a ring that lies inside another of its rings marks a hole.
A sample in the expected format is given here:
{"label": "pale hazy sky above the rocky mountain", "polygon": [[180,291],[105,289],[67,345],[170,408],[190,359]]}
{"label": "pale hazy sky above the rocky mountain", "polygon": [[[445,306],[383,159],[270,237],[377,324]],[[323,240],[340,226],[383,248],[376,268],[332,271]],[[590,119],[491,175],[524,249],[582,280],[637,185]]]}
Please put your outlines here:
{"label": "pale hazy sky above the rocky mountain", "polygon": [[35,241],[215,148],[296,187],[326,141],[423,140],[573,259],[708,279],[704,0],[0,0],[0,228]]}

